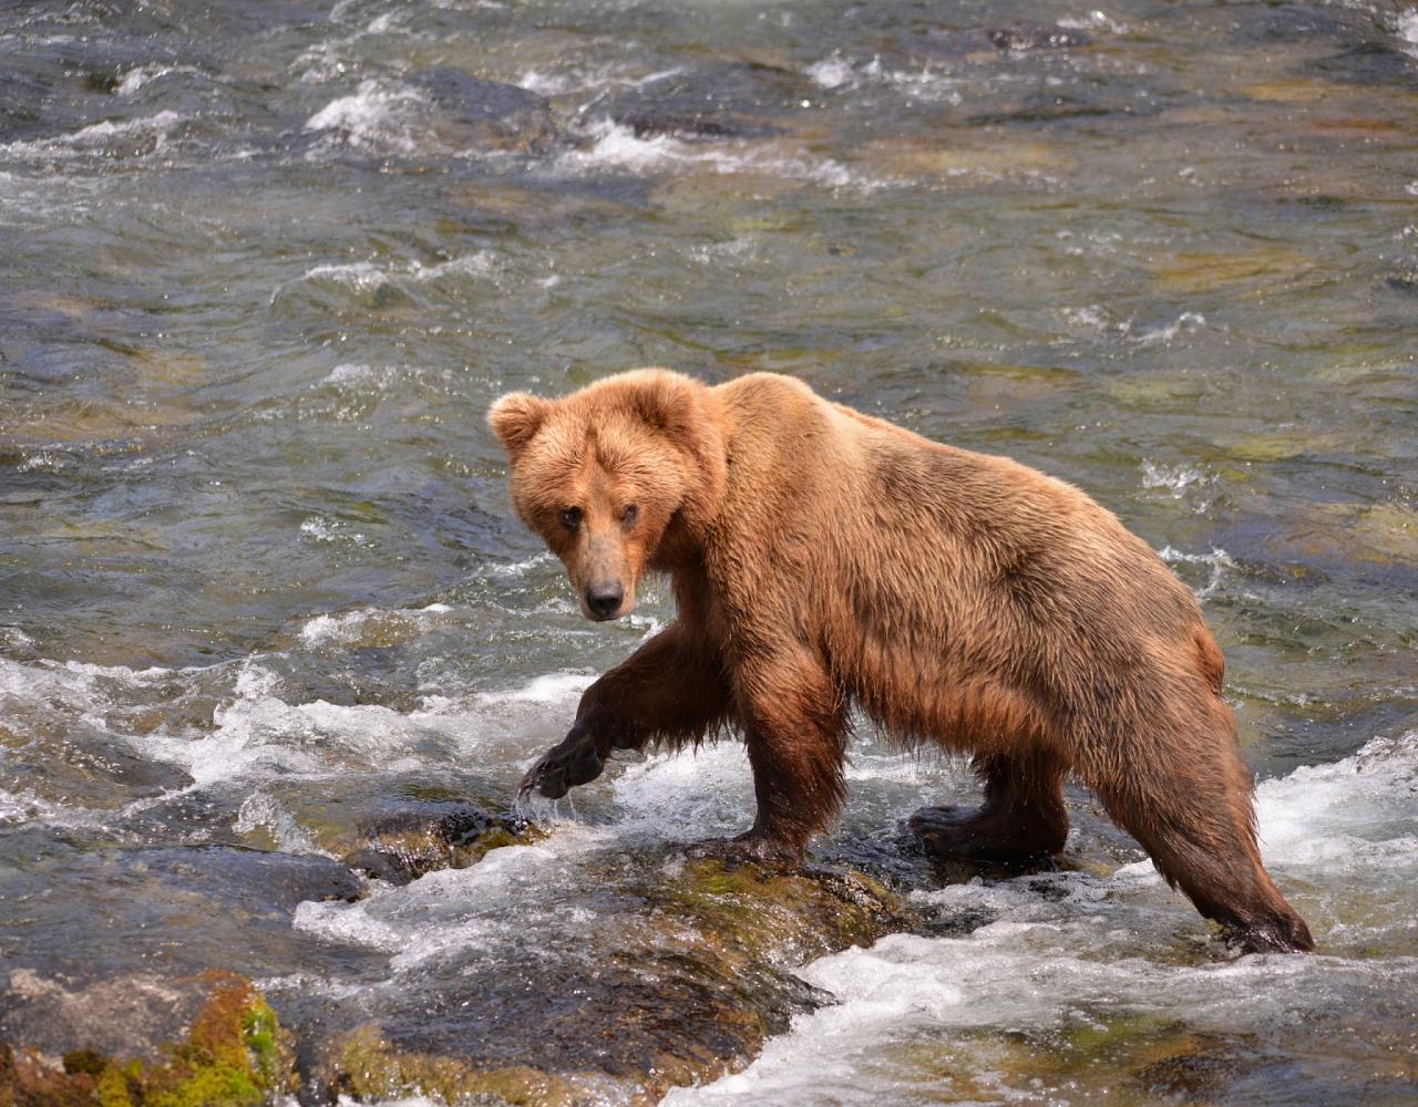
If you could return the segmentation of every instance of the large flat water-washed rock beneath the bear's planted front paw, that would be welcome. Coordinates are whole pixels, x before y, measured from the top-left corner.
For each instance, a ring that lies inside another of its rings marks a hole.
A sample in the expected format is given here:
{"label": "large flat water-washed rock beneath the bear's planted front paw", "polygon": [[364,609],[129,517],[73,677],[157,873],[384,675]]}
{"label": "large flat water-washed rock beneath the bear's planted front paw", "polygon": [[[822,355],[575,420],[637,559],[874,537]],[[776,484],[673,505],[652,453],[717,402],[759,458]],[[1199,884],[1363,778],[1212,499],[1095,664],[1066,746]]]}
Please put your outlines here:
{"label": "large flat water-washed rock beneath the bear's planted front paw", "polygon": [[397,991],[328,1002],[312,1094],[654,1101],[740,1067],[830,1001],[795,967],[916,923],[849,870],[598,863],[598,917],[580,941],[549,931],[498,958],[452,950]]}

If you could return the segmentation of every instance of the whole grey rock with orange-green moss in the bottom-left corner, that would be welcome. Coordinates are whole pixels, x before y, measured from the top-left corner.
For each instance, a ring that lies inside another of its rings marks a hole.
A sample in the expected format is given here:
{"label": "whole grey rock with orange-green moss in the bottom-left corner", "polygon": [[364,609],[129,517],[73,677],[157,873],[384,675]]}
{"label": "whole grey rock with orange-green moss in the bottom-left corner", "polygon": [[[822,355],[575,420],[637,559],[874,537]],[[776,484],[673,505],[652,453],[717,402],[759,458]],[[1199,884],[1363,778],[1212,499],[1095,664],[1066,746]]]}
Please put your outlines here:
{"label": "whole grey rock with orange-green moss in the bottom-left corner", "polygon": [[235,1107],[295,1090],[289,1035],[230,972],[69,989],[28,970],[0,994],[0,1104]]}

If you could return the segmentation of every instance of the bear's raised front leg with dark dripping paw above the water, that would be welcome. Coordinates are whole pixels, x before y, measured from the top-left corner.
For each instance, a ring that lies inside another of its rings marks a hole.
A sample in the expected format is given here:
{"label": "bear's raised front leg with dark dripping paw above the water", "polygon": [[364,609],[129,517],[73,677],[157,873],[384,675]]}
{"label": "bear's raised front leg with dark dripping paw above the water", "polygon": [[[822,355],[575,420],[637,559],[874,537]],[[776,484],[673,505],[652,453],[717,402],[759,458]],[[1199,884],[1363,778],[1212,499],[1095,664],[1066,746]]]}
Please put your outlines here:
{"label": "bear's raised front leg with dark dripping paw above the water", "polygon": [[601,775],[611,750],[696,741],[730,710],[723,666],[674,622],[581,695],[567,736],[527,770],[518,795],[560,799]]}

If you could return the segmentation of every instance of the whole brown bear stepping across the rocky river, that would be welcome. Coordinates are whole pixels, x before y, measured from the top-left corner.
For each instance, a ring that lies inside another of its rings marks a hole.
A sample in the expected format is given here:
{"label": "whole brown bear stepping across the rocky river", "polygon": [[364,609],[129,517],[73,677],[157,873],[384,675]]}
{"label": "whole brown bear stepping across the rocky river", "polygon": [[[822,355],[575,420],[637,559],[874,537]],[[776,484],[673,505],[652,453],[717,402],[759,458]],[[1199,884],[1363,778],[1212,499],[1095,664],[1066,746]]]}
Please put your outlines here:
{"label": "whole brown bear stepping across the rocky river", "polygon": [[586,690],[523,791],[556,798],[614,748],[735,727],[759,811],[719,848],[797,860],[842,804],[855,704],[902,743],[973,755],[984,807],[910,822],[939,853],[1058,853],[1072,774],[1244,948],[1313,948],[1261,866],[1191,591],[1076,488],[767,373],[709,387],[645,369],[505,395],[489,422],[587,618],[627,614],[647,568],[678,607]]}

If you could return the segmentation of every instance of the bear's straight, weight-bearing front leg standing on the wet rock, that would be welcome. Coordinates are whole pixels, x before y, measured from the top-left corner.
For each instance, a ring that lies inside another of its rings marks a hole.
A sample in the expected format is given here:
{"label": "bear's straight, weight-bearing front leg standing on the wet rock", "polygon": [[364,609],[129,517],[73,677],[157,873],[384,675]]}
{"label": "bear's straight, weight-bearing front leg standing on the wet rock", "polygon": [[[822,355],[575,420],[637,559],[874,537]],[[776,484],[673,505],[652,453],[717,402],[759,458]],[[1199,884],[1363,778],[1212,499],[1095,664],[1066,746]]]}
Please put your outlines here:
{"label": "bear's straight, weight-bearing front leg standing on the wet rock", "polygon": [[753,768],[759,814],[753,829],[696,852],[750,860],[800,862],[847,794],[842,774],[844,703],[805,653],[742,666],[739,714]]}

